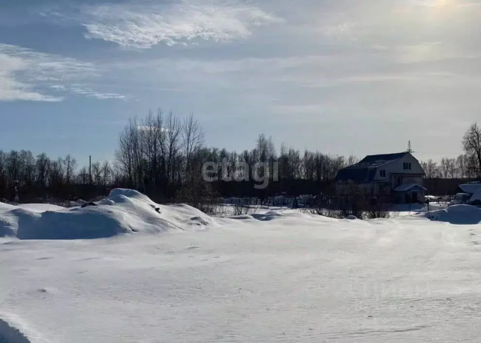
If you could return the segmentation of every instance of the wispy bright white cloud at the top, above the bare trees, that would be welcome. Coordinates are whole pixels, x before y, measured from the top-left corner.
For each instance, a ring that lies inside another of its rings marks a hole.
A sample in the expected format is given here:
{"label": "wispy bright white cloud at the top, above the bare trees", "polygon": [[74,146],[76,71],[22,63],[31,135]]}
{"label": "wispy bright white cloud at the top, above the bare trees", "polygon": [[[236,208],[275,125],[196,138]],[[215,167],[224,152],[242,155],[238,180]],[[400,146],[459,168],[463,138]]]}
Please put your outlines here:
{"label": "wispy bright white cloud at the top, above the bare trees", "polygon": [[84,6],[80,20],[88,38],[122,47],[148,49],[195,39],[231,41],[246,38],[260,25],[277,22],[242,1],[178,1],[175,4],[103,4]]}

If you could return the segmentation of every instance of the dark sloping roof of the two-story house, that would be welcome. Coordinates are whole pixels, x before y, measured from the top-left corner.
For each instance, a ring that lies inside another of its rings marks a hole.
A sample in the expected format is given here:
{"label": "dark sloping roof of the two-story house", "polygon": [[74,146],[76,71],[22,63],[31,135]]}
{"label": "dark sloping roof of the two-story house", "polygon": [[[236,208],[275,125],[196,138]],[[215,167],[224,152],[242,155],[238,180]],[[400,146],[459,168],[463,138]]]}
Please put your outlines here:
{"label": "dark sloping roof of the two-story house", "polygon": [[368,155],[358,163],[339,170],[336,175],[336,181],[372,182],[376,176],[376,171],[380,166],[394,162],[400,158],[403,158],[407,154],[409,154],[409,152]]}

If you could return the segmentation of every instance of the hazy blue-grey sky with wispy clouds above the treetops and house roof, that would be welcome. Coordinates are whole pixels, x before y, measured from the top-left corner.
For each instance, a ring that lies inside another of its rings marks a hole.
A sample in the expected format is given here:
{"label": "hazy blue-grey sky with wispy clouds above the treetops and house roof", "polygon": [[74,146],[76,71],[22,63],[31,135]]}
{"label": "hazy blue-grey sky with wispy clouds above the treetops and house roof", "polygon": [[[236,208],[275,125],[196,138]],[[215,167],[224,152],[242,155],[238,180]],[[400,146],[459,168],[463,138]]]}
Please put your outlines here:
{"label": "hazy blue-grey sky with wispy clouds above the treetops and house roof", "polygon": [[456,157],[481,113],[478,0],[0,3],[0,149],[111,160],[131,117],[192,112],[332,155]]}

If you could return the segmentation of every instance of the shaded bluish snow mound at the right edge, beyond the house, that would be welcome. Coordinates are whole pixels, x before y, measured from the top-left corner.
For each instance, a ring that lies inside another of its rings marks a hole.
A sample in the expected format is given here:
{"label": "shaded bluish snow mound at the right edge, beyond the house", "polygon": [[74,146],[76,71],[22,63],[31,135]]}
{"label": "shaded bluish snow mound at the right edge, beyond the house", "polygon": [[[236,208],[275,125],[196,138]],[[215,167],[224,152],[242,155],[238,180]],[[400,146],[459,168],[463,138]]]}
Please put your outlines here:
{"label": "shaded bluish snow mound at the right edge, beyond the house", "polygon": [[481,208],[471,205],[453,205],[446,209],[431,211],[426,216],[433,221],[469,225],[481,222]]}

